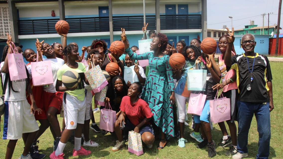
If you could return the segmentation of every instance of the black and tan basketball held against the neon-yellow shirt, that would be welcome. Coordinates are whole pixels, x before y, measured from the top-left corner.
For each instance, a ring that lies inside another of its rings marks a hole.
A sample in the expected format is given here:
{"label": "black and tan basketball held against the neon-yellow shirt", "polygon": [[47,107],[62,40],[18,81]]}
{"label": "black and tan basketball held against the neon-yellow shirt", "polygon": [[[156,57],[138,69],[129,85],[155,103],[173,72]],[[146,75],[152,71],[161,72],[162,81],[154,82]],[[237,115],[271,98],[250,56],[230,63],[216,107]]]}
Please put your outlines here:
{"label": "black and tan basketball held against the neon-yellow shirt", "polygon": [[73,88],[80,83],[81,77],[75,70],[68,70],[62,76],[62,82],[67,88]]}

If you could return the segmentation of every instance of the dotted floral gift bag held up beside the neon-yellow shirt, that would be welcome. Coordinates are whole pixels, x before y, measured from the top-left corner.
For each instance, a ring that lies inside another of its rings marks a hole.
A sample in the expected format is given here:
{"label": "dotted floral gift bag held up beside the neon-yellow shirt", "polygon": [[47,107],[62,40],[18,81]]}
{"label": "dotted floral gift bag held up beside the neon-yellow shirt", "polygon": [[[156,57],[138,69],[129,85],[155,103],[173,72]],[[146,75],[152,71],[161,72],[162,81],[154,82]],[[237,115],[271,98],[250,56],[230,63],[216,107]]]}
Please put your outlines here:
{"label": "dotted floral gift bag held up beside the neon-yellow shirt", "polygon": [[107,84],[107,80],[99,67],[99,65],[94,66],[91,62],[92,68],[85,72],[85,76],[89,81],[93,93],[100,92]]}

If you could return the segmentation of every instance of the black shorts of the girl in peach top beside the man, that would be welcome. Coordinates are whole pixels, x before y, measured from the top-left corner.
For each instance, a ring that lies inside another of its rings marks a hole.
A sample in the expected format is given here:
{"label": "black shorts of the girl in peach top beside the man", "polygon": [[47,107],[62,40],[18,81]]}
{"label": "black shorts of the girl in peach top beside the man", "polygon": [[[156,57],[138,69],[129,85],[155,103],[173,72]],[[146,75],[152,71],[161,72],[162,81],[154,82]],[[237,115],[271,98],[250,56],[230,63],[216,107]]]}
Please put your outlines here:
{"label": "black shorts of the girl in peach top beside the man", "polygon": [[234,121],[237,121],[237,114],[238,114],[238,107],[237,107],[237,102],[238,102],[238,89],[232,89],[227,92],[222,92],[223,96],[226,98],[230,98],[230,105],[231,105],[231,119],[228,120],[227,122],[233,123]]}

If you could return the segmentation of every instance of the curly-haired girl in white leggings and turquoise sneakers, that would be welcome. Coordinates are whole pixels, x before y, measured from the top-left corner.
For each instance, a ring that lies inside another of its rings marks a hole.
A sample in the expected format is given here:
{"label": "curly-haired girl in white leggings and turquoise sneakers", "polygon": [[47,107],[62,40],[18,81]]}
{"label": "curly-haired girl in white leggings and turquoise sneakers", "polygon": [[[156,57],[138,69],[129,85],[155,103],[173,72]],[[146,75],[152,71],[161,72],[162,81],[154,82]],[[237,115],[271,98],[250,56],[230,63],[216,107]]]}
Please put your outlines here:
{"label": "curly-haired girl in white leggings and turquoise sneakers", "polygon": [[[180,131],[180,139],[179,139],[179,147],[185,147],[185,139],[184,139],[184,131],[185,131],[185,120],[186,120],[186,102],[189,102],[190,94],[192,91],[188,91],[186,85],[187,85],[187,70],[192,70],[194,69],[193,66],[195,63],[196,64],[196,69],[201,69],[198,68],[199,65],[201,67],[204,66],[203,62],[201,61],[201,52],[200,50],[194,46],[185,46],[183,49],[182,54],[185,57],[186,64],[183,67],[183,69],[177,69],[175,71],[175,77],[178,81],[178,84],[176,85],[175,89],[175,98],[176,98],[176,103],[177,103],[177,108],[178,108],[178,124],[179,124],[179,131]],[[199,127],[200,124],[197,124],[197,129],[190,134],[196,141],[201,142],[203,139],[201,139],[200,132],[199,132]]]}

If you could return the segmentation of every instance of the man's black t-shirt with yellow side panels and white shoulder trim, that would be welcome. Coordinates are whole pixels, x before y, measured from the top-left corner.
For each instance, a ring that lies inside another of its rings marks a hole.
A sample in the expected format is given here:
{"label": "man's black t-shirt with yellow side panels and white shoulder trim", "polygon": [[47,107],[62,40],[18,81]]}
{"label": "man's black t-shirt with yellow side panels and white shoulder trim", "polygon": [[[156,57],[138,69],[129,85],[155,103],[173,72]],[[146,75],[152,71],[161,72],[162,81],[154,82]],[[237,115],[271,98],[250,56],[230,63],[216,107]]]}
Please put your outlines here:
{"label": "man's black t-shirt with yellow side panels and white shoulder trim", "polygon": [[[256,59],[254,62],[254,56],[247,56],[248,63],[245,54],[235,55],[231,58],[231,69],[236,70],[237,85],[239,92],[238,101],[241,102],[268,102],[269,98],[267,92],[267,81],[272,80],[271,69],[268,58],[265,55],[256,53]],[[253,80],[251,82],[251,74],[248,70],[252,71],[252,65],[254,62],[254,70],[252,72]],[[247,90],[247,85],[251,86],[251,90]]]}

